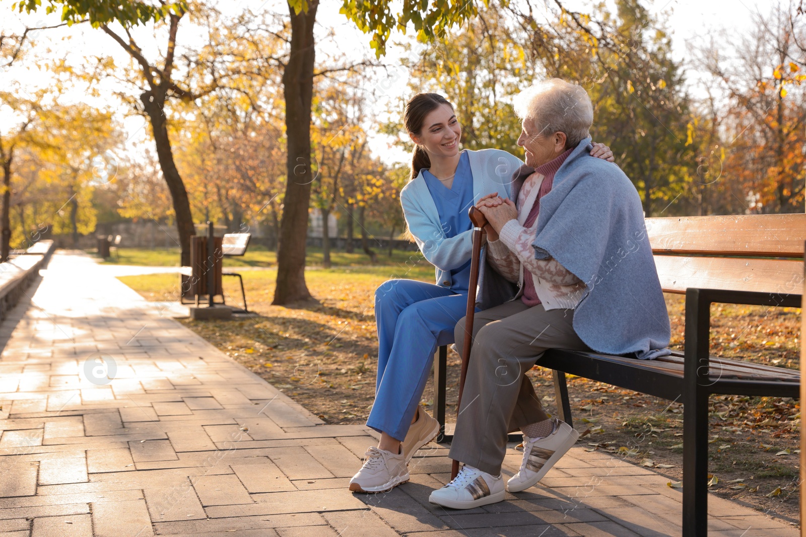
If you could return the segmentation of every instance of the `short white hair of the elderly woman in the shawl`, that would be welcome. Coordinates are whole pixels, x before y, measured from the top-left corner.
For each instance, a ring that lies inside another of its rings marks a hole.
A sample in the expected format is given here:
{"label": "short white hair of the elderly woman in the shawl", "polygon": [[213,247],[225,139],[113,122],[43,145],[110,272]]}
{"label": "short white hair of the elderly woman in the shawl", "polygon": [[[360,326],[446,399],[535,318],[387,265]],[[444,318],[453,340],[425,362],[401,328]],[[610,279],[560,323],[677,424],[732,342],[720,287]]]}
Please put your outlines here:
{"label": "short white hair of the elderly woman in the shawl", "polygon": [[515,96],[514,108],[519,118],[534,121],[538,136],[565,133],[567,148],[590,136],[593,105],[580,85],[559,78],[538,82]]}

